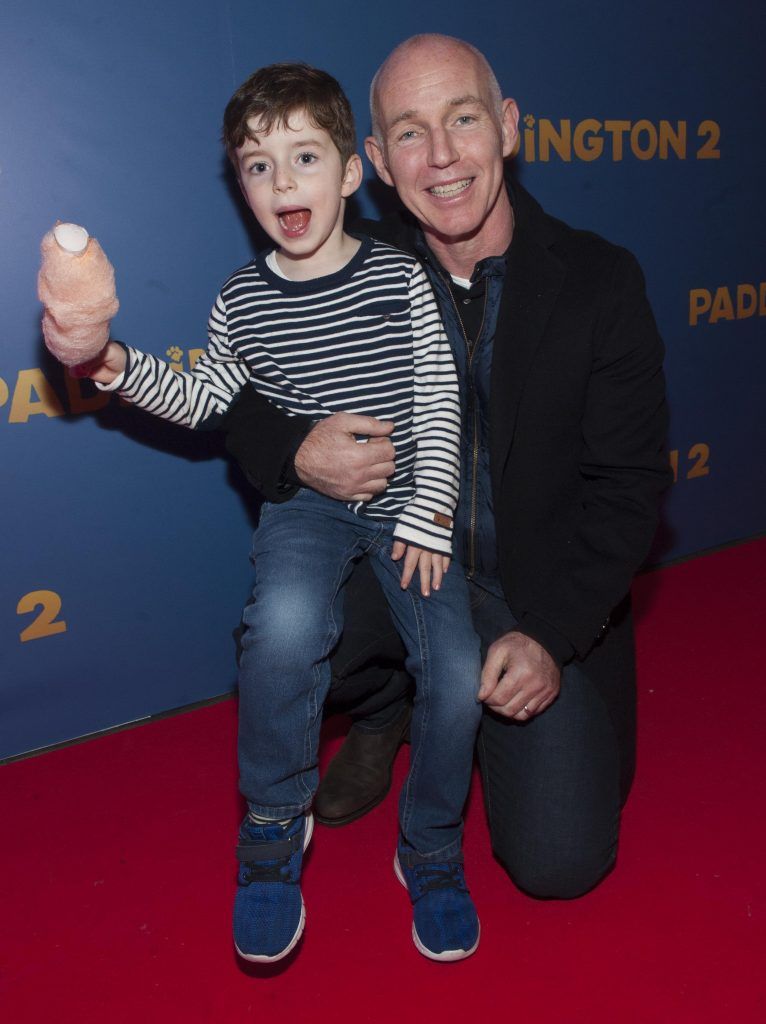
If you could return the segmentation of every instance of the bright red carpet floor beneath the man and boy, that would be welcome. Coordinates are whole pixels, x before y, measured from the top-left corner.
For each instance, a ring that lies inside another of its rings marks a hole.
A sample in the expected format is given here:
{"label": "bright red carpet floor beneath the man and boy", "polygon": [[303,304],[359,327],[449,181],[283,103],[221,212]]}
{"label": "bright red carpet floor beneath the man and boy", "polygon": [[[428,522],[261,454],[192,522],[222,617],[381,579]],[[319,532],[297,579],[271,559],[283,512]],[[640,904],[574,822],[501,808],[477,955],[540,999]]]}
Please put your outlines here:
{"label": "bright red carpet floor beneath the man and boy", "polygon": [[474,780],[482,939],[460,964],[412,945],[389,796],[353,825],[317,828],[297,956],[241,966],[232,700],[0,769],[0,1019],[766,1020],[764,577],[759,541],[637,582],[639,771],[618,867],[595,892],[545,903],[514,890]]}

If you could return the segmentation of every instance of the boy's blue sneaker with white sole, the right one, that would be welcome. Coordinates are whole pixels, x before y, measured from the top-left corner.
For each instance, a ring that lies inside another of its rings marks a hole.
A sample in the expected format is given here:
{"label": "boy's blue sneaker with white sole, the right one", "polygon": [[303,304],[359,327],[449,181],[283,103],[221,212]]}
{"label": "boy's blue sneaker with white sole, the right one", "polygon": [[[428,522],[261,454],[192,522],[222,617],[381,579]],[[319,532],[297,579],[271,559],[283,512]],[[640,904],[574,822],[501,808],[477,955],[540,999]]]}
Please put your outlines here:
{"label": "boy's blue sneaker with white sole, the right one", "polygon": [[480,927],[460,860],[409,866],[393,860],[413,904],[413,942],[430,959],[464,959],[476,951]]}

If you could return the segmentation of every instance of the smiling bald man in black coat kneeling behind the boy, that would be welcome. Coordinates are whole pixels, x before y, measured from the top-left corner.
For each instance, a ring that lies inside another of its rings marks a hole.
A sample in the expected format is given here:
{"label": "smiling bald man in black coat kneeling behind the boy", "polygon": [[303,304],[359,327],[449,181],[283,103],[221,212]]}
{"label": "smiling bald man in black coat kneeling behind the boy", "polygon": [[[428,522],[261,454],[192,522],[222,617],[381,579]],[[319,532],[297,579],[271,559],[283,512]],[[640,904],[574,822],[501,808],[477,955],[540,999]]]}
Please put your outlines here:
{"label": "smiling bald man in black coat kneeling behind the boy", "polygon": [[[371,105],[367,154],[410,216],[366,229],[423,261],[461,379],[455,553],[484,652],[478,754],[493,849],[526,892],[578,896],[613,864],[633,774],[629,591],[669,479],[663,345],[634,258],[506,179],[518,110],[478,51],[407,40]],[[272,499],[297,483],[343,500],[385,487],[390,425],[340,414],[308,429],[248,400],[229,446]],[[349,651],[351,615],[368,630],[386,622],[377,601],[373,585],[348,597],[339,692],[364,678],[348,665],[374,653]],[[386,700],[401,678],[387,680]],[[351,729],[317,794],[331,823],[381,799],[401,739],[398,706],[366,695],[377,714]]]}

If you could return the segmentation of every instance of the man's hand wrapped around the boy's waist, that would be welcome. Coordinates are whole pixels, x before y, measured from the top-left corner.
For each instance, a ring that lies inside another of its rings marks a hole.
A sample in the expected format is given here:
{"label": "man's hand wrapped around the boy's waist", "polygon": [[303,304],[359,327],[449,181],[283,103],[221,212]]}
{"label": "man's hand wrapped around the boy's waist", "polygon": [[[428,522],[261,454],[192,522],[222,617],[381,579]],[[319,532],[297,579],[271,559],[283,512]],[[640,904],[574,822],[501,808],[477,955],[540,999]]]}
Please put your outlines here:
{"label": "man's hand wrapped around the boy's waist", "polygon": [[[312,490],[342,502],[369,502],[386,489],[393,473],[390,420],[334,413],[320,420],[295,456],[298,478]],[[370,440],[359,443],[356,434]]]}

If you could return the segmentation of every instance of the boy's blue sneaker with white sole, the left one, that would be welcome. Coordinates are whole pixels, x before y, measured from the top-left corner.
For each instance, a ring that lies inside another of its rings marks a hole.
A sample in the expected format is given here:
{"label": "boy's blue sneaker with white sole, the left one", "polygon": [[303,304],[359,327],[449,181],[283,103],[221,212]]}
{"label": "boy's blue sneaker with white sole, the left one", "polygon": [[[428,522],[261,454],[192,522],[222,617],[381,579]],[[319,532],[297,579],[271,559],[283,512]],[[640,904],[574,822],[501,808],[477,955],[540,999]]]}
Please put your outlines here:
{"label": "boy's blue sneaker with white sole, the left one", "polygon": [[240,872],[235,898],[235,946],[240,956],[270,964],[287,956],[303,933],[306,912],[300,893],[303,851],[313,818],[301,814],[286,824],[255,822],[240,827]]}

